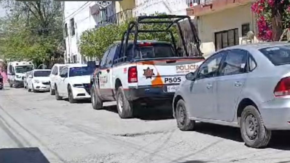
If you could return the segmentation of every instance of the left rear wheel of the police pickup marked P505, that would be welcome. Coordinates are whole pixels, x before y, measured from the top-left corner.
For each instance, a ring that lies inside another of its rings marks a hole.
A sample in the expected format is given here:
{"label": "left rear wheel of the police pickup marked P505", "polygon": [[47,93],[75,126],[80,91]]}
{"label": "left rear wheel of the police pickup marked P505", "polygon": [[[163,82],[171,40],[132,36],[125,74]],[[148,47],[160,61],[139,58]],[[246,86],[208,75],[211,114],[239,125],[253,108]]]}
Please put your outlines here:
{"label": "left rear wheel of the police pickup marked P505", "polygon": [[132,118],[133,117],[133,102],[128,101],[123,87],[119,87],[116,94],[117,100],[117,109],[119,116],[123,118]]}

